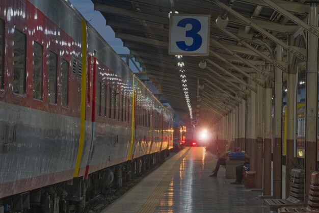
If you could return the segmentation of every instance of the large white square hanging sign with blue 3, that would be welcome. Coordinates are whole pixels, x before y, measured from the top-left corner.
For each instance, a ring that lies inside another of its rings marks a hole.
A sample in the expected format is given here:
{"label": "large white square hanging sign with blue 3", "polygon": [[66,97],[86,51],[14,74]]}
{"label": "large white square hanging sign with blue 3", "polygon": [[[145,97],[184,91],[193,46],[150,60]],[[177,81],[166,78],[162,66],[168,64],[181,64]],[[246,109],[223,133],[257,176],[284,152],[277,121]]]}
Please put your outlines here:
{"label": "large white square hanging sign with blue 3", "polygon": [[171,14],[169,55],[208,56],[210,15]]}

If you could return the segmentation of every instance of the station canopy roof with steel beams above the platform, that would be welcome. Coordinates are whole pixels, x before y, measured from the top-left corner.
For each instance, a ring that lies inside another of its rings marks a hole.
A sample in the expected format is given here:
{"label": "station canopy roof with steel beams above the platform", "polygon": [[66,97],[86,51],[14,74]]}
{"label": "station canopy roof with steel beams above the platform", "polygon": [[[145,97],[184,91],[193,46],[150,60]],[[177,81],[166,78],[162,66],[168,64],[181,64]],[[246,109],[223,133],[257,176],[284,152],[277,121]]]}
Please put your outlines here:
{"label": "station canopy roof with steel beams above the platform", "polygon": [[[186,123],[189,109],[179,77],[178,59],[168,55],[169,13],[210,14],[209,57],[183,56],[193,117],[209,125],[227,115],[246,95],[274,81],[274,70],[287,72],[287,57],[297,67],[306,61],[309,29],[306,1],[281,0],[92,0],[108,25],[151,81]],[[226,28],[216,24],[226,15]],[[310,26],[311,27],[311,26]],[[314,32],[313,32],[314,30]],[[316,32],[315,32],[316,31]],[[275,58],[274,47],[284,49],[284,62]],[[198,64],[206,60],[207,67]],[[303,64],[303,66],[305,66]],[[301,67],[301,66],[299,66]],[[204,86],[197,96],[198,82]],[[200,107],[197,108],[199,105]]]}

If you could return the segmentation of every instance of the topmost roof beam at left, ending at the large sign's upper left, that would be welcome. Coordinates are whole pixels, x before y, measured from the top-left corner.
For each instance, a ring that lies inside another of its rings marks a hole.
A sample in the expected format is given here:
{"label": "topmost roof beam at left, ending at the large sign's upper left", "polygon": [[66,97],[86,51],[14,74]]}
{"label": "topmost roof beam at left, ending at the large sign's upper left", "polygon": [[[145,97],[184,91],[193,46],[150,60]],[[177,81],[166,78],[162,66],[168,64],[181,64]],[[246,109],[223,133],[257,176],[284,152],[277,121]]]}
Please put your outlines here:
{"label": "topmost roof beam at left, ending at the large sign's upper left", "polygon": [[103,13],[108,13],[108,14],[115,14],[115,15],[121,15],[121,16],[126,16],[129,18],[136,18],[140,20],[145,20],[145,21],[150,21],[154,23],[160,23],[160,24],[169,24],[169,19],[168,17],[161,17],[161,16],[155,16],[155,15],[150,15],[146,13],[140,13],[132,10],[126,10],[118,7],[112,7],[109,5],[104,5],[100,3],[95,3],[94,4],[94,10],[98,10]]}

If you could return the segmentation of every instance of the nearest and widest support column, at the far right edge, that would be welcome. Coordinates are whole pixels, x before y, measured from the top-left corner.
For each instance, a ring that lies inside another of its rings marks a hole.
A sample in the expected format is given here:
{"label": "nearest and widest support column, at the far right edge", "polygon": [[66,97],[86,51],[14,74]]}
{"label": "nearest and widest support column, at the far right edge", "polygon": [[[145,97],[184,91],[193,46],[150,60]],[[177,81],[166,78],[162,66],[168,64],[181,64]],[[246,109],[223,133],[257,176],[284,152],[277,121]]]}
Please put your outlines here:
{"label": "nearest and widest support column, at the far right edge", "polygon": [[[310,3],[309,25],[318,25],[318,8]],[[306,75],[306,144],[305,144],[305,206],[308,201],[310,177],[317,168],[317,105],[318,105],[318,38],[308,32]]]}

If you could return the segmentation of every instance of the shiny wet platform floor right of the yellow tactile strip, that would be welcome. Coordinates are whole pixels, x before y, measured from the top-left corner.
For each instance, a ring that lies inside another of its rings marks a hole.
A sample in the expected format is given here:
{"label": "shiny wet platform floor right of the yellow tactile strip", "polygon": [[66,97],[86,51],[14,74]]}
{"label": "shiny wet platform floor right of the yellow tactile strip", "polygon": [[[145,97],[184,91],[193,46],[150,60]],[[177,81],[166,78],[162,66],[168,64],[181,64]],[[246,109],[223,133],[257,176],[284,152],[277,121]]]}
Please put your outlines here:
{"label": "shiny wet platform floor right of the yellow tactile strip", "polygon": [[215,168],[216,156],[204,147],[192,147],[182,159],[155,212],[270,212],[261,192],[252,192],[243,185],[225,179],[225,169],[217,177],[209,177]]}

